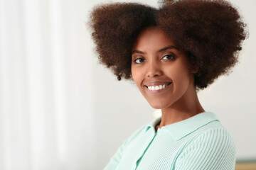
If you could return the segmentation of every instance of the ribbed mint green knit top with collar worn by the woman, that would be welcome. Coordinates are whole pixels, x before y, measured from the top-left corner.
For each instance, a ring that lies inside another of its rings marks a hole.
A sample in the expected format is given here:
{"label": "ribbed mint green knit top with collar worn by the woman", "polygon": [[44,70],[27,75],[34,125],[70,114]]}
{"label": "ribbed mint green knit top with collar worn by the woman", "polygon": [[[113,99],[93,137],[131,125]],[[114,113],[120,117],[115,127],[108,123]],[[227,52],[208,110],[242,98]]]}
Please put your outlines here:
{"label": "ribbed mint green knit top with collar worn by the woman", "polygon": [[104,170],[235,169],[235,142],[214,113],[199,113],[156,132],[160,120],[135,131]]}

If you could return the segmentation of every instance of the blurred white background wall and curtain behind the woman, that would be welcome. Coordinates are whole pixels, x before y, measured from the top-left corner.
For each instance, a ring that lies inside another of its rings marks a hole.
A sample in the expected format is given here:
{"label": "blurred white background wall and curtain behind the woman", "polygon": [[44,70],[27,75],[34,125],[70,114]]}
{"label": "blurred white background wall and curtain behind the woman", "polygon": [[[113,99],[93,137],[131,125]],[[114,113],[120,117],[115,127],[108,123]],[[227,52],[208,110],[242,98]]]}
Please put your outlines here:
{"label": "blurred white background wall and curtain behind the woman", "polygon": [[[116,1],[0,0],[1,170],[103,169],[154,119],[137,86],[97,61],[86,22],[102,2]],[[238,162],[247,162],[256,159],[256,1],[231,2],[250,37],[233,73],[198,96],[234,137]]]}

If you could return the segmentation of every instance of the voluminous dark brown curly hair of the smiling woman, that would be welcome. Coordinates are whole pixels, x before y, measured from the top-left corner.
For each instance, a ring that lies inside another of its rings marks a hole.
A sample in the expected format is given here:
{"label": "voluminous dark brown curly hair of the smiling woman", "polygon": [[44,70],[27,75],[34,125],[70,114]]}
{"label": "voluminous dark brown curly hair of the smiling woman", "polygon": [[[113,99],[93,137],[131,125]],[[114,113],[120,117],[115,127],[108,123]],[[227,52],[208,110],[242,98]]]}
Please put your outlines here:
{"label": "voluminous dark brown curly hair of the smiling woman", "polygon": [[163,0],[159,8],[138,3],[96,6],[90,15],[92,38],[102,64],[117,79],[131,79],[132,46],[139,33],[158,26],[186,50],[196,89],[204,89],[238,63],[247,37],[238,10],[224,0]]}

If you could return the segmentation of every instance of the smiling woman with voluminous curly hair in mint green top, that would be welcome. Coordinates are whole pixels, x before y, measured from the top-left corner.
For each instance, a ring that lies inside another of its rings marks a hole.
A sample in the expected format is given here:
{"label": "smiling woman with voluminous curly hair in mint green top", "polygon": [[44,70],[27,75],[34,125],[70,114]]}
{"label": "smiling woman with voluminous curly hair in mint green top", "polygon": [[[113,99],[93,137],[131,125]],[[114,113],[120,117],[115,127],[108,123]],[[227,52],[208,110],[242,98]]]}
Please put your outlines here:
{"label": "smiling woman with voluminous curly hair in mint green top", "polygon": [[197,91],[238,62],[245,24],[227,1],[106,4],[91,14],[102,64],[133,79],[161,117],[117,150],[108,169],[235,169],[235,142]]}

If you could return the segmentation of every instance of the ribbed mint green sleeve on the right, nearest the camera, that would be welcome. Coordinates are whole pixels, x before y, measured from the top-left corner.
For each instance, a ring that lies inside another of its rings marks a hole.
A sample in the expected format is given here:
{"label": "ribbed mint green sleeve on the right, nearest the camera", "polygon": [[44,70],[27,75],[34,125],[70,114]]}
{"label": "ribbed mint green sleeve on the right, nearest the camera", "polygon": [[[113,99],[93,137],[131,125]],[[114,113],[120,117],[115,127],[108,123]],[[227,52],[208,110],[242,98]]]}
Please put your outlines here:
{"label": "ribbed mint green sleeve on the right, nearest the camera", "polygon": [[234,170],[236,146],[225,128],[206,130],[183,149],[175,170]]}

